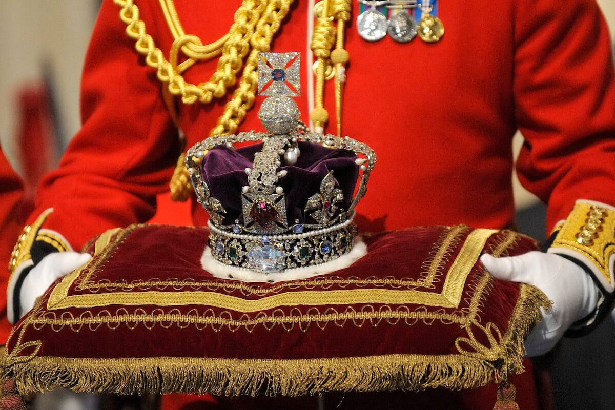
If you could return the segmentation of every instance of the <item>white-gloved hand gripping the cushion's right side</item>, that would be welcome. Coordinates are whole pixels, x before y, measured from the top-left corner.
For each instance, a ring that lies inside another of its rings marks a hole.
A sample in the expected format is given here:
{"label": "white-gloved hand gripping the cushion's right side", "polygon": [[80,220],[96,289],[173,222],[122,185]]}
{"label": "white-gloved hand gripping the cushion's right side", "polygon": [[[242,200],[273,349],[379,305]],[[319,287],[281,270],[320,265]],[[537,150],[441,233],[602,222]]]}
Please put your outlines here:
{"label": "white-gloved hand gripping the cushion's right side", "polygon": [[557,254],[533,251],[504,258],[483,254],[480,261],[494,277],[534,285],[553,302],[549,310],[542,310],[542,320],[525,339],[527,356],[553,349],[566,329],[593,312],[600,298],[590,275]]}

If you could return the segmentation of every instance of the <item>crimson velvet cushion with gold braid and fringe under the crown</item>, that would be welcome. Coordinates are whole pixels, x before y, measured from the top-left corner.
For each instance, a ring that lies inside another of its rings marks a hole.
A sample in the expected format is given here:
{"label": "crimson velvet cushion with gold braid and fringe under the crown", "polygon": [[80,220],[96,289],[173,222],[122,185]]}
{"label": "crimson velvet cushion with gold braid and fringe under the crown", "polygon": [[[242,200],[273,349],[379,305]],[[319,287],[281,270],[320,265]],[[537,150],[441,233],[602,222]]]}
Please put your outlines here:
{"label": "crimson velvet cushion with gold braid and fringe under the crown", "polygon": [[346,269],[245,283],[202,268],[205,229],[108,231],[15,326],[4,375],[22,394],[304,395],[472,388],[522,371],[523,338],[549,301],[478,258],[534,240],[467,226],[362,240],[368,253]]}

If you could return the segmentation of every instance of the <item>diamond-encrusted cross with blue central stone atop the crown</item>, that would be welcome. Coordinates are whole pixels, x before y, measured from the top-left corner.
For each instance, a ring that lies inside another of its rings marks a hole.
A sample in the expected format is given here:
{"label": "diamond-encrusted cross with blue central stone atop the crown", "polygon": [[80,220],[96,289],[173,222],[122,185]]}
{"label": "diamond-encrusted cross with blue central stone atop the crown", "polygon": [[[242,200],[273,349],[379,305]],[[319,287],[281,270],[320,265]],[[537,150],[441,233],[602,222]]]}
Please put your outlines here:
{"label": "diamond-encrusted cross with blue central stone atop the crown", "polygon": [[300,53],[258,53],[258,93],[299,97]]}

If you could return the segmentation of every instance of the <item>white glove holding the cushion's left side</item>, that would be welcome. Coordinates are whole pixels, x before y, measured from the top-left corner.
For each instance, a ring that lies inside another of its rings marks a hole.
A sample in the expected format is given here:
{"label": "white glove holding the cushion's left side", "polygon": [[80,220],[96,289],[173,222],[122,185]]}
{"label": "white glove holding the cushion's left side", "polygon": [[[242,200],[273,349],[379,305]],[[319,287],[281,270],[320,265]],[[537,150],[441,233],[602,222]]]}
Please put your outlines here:
{"label": "white glove holding the cushion's left side", "polygon": [[84,266],[92,259],[89,253],[54,252],[41,259],[36,266],[28,272],[23,280],[19,293],[21,307],[20,317],[23,317],[34,307],[36,298],[39,298],[52,283],[78,267]]}

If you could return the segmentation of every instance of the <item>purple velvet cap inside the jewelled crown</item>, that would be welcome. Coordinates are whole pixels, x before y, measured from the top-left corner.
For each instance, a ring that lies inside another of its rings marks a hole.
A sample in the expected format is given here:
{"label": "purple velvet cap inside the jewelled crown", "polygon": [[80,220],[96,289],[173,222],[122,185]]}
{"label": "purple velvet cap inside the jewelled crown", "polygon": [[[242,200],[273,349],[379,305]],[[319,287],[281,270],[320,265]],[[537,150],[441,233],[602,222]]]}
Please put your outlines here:
{"label": "purple velvet cap inside the jewelled crown", "polygon": [[[251,144],[237,149],[216,146],[207,153],[202,162],[202,178],[207,183],[212,197],[218,199],[226,210],[224,224],[233,224],[242,216],[242,187],[248,185],[245,168],[253,167],[254,154],[263,149],[263,144]],[[278,178],[277,186],[284,189],[288,224],[298,219],[301,223],[315,223],[304,215],[308,198],[320,192],[320,183],[330,171],[341,189],[344,200],[341,207],[347,210],[359,178],[357,156],[346,149],[326,148],[320,144],[300,142],[301,155],[295,165],[282,166],[277,171],[286,170],[287,175]]]}

